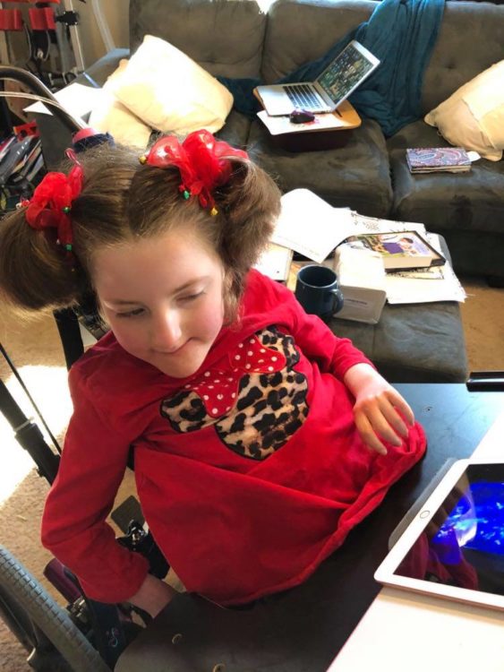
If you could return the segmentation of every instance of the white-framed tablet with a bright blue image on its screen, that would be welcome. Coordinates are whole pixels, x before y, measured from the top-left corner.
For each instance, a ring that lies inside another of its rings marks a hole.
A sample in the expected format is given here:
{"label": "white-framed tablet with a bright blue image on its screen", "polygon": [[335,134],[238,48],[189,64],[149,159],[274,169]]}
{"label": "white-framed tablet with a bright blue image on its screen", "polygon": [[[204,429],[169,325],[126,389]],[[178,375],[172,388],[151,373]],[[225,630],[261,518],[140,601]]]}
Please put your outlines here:
{"label": "white-framed tablet with a bright blue image on its screen", "polygon": [[504,610],[504,458],[455,461],[374,578]]}

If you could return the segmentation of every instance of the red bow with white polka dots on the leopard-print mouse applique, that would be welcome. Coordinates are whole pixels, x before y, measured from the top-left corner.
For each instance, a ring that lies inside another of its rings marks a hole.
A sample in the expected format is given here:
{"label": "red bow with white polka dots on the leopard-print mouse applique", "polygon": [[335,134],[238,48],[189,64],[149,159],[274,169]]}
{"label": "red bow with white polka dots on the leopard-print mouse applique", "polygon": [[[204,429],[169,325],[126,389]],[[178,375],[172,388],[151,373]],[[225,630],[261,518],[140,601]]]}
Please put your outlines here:
{"label": "red bow with white polka dots on the leopard-print mouse applique", "polygon": [[271,374],[286,366],[286,356],[278,350],[265,348],[254,334],[228,354],[229,369],[210,368],[199,383],[184,385],[196,392],[211,418],[220,418],[235,404],[243,374]]}

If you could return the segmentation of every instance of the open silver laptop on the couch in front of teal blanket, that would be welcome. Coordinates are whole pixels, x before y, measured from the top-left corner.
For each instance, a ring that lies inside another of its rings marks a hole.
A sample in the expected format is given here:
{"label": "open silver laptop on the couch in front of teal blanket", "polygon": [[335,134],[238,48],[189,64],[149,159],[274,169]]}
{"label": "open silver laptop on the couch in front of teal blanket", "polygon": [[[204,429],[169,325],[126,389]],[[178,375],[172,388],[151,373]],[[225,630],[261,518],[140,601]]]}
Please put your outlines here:
{"label": "open silver laptop on the couch in front of teal blanket", "polygon": [[257,93],[270,116],[290,115],[295,109],[333,112],[378,65],[379,59],[354,39],[315,82],[258,86]]}

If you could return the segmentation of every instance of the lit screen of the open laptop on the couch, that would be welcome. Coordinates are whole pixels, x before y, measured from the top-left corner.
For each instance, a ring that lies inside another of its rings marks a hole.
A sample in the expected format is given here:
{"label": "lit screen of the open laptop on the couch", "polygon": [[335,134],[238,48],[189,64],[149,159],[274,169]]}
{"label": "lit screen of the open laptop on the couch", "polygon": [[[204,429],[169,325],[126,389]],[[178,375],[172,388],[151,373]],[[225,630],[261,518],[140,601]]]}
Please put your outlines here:
{"label": "lit screen of the open laptop on the couch", "polygon": [[[360,45],[359,45],[360,47]],[[317,82],[335,104],[339,104],[367,77],[378,65],[378,59],[372,54],[368,57],[355,42],[350,44],[329,65]]]}

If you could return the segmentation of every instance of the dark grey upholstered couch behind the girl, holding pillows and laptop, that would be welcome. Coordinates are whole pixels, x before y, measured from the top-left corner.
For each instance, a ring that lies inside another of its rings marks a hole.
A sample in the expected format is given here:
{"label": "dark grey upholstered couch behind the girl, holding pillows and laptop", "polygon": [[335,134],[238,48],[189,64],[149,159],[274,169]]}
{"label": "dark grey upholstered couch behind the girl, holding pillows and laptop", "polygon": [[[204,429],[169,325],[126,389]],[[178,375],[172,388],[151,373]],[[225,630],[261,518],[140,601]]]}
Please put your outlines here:
{"label": "dark grey upholstered couch behind the girl, holding pillows and laptop", "polygon": [[[367,21],[371,0],[277,0],[262,13],[254,0],[131,0],[130,47],[145,34],[180,48],[214,75],[275,82],[320,57]],[[88,71],[98,83],[112,73],[124,49]],[[504,6],[447,2],[423,79],[423,113],[462,84],[504,59]],[[293,153],[278,148],[258,119],[233,110],[219,134],[248,148],[284,191],[304,186],[335,206],[363,214],[421,221],[442,234],[458,273],[504,281],[504,162],[481,159],[465,175],[412,176],[407,147],[444,146],[422,119],[386,138],[363,118],[344,147]]]}

